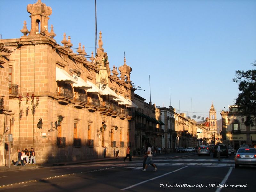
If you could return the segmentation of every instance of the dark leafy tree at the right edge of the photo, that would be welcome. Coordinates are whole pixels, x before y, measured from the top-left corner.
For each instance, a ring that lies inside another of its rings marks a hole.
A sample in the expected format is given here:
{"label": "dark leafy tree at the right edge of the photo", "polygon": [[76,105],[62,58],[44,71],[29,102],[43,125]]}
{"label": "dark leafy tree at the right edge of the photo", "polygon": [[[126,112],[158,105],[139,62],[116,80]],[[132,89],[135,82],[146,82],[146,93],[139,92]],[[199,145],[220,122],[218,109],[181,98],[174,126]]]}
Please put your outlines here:
{"label": "dark leafy tree at the right edge of the photo", "polygon": [[[252,63],[256,67],[256,61]],[[233,82],[239,83],[241,91],[236,98],[235,104],[238,110],[247,116],[245,125],[254,126],[256,119],[256,70],[236,71]]]}

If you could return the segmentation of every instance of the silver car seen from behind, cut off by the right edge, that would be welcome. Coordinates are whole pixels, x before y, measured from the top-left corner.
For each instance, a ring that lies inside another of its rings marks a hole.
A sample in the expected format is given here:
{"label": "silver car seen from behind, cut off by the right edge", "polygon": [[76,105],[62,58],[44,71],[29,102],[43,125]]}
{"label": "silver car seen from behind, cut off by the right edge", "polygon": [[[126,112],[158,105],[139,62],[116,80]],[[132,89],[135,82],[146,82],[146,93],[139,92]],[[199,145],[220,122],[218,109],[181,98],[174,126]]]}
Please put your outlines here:
{"label": "silver car seen from behind, cut off by the right edge", "polygon": [[256,149],[240,148],[235,156],[235,167],[239,165],[255,165],[256,166]]}

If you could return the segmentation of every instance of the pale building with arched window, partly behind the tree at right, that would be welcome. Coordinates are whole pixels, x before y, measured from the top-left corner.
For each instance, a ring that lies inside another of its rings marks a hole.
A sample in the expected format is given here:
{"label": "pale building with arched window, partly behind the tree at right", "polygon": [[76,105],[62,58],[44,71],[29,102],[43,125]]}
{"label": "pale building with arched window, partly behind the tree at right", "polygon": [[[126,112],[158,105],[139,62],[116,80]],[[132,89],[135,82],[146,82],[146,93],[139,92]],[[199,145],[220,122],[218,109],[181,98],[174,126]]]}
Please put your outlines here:
{"label": "pale building with arched window, partly behind the tree at right", "polygon": [[245,125],[246,117],[237,106],[221,112],[223,143],[238,148],[241,144],[256,144],[256,127]]}

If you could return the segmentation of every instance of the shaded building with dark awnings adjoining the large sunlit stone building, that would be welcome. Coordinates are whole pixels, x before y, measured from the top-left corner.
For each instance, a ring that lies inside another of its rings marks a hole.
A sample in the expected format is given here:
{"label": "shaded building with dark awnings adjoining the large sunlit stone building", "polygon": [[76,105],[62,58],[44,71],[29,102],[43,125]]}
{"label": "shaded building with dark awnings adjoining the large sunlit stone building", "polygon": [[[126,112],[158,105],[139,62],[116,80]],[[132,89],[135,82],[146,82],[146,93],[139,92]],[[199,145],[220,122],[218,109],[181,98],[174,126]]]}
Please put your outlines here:
{"label": "shaded building with dark awnings adjoining the large sunlit stone building", "polygon": [[134,95],[134,103],[138,108],[134,108],[135,116],[135,146],[137,151],[142,148],[146,142],[152,146],[162,147],[161,111],[156,108],[156,104],[146,103],[145,99],[139,95]]}

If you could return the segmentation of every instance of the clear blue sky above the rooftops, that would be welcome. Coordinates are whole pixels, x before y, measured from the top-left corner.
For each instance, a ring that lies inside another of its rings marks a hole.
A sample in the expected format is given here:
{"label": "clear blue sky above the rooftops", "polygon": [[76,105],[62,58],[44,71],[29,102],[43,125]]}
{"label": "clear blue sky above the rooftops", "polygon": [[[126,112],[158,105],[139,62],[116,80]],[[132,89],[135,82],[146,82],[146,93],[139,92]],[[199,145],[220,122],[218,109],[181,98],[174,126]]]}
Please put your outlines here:
{"label": "clear blue sky above the rooftops", "polygon": [[[1,0],[2,39],[20,38],[24,20],[30,30],[26,7],[36,1]],[[73,47],[95,50],[94,0],[42,2],[52,8],[48,28],[58,44],[65,32]],[[239,93],[235,71],[256,60],[255,10],[255,0],[97,0],[97,26],[110,68],[124,64],[125,52],[132,82],[145,89],[135,93],[146,102],[150,75],[152,103],[169,107],[171,89],[177,112],[207,117],[213,101],[220,119]]]}

